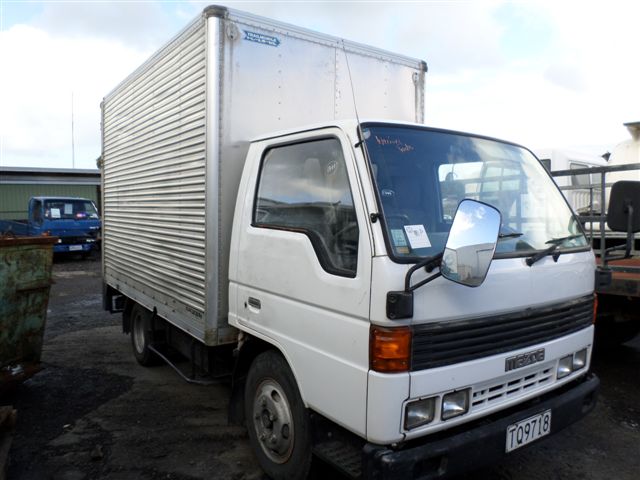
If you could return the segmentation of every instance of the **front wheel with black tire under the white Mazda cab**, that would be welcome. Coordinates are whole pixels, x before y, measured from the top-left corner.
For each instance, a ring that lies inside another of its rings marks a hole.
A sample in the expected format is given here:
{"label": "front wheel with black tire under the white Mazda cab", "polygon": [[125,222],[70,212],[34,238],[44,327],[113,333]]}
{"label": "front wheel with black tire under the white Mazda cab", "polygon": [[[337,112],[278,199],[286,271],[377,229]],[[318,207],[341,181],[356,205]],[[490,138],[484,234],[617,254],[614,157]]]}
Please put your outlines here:
{"label": "front wheel with black tire under the white Mazda cab", "polygon": [[251,447],[265,473],[274,480],[307,478],[312,456],[309,414],[278,352],[269,350],[254,359],[244,406]]}

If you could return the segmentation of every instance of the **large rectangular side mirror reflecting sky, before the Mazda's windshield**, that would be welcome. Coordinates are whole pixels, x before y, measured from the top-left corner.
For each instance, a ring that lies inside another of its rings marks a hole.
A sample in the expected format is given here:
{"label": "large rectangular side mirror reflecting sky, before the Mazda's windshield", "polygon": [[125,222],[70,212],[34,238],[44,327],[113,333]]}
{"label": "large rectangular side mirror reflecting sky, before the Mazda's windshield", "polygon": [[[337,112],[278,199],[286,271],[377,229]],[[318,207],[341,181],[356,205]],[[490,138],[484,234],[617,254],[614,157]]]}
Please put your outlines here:
{"label": "large rectangular side mirror reflecting sky, before the Mazda's windshield", "polygon": [[495,207],[475,200],[461,201],[442,255],[442,276],[468,287],[482,285],[496,250],[501,222]]}

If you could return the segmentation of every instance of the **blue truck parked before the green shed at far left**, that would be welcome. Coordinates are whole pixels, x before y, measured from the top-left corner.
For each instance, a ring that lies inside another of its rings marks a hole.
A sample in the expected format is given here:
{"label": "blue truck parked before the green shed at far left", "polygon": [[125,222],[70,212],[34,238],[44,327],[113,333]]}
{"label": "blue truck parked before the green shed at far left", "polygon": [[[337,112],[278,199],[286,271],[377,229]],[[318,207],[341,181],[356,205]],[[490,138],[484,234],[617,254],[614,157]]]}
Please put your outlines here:
{"label": "blue truck parked before the green shed at far left", "polygon": [[88,255],[100,248],[102,223],[92,200],[77,197],[32,197],[24,220],[0,220],[0,234],[58,237],[54,252]]}

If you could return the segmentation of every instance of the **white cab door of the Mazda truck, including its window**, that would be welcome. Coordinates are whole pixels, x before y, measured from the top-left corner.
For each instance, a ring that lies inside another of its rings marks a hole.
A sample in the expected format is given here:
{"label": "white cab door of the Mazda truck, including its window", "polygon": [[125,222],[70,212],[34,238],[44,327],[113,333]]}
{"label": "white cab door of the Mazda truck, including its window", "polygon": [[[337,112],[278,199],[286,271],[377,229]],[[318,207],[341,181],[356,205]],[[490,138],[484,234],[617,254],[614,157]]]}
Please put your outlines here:
{"label": "white cab door of the Mazda truck, including its window", "polygon": [[308,407],[365,434],[372,247],[351,143],[330,128],[258,147],[234,227],[238,326],[280,349]]}

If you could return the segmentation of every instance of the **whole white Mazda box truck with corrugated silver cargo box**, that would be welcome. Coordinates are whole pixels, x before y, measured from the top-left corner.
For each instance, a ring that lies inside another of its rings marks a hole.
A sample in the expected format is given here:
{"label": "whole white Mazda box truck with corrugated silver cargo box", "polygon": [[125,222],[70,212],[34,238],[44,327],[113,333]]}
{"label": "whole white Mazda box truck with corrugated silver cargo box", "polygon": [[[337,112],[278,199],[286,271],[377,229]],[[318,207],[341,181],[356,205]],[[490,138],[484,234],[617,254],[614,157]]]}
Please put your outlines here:
{"label": "whole white Mazda box truck with corrugated silver cargo box", "polygon": [[209,7],[104,99],[105,306],[231,378],[272,478],[449,477],[594,407],[579,222],[527,149],[422,125],[425,73]]}

